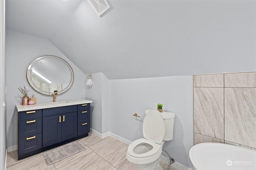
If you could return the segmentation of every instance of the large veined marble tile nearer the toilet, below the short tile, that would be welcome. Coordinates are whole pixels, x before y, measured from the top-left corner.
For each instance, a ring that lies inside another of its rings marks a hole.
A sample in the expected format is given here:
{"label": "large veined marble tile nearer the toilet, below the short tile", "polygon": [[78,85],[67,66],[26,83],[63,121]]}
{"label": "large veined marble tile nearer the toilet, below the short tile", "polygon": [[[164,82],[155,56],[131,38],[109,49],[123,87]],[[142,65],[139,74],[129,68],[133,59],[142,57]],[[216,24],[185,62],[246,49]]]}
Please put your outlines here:
{"label": "large veined marble tile nearer the toilet, below the short tile", "polygon": [[194,132],[224,140],[224,88],[194,88]]}

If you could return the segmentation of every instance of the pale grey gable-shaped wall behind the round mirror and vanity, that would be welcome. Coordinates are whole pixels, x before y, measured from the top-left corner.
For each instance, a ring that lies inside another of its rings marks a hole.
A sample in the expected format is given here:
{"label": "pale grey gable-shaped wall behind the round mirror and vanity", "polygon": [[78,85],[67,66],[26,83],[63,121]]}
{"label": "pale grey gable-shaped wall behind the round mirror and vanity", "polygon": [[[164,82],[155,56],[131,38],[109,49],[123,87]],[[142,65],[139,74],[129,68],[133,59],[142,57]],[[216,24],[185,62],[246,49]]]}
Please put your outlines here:
{"label": "pale grey gable-shaped wall behind the round mirror and vanity", "polygon": [[[36,95],[37,102],[52,102],[52,96],[42,95],[33,90],[27,82],[26,70],[34,59],[54,55],[67,61],[74,71],[74,83],[70,90],[57,95],[56,101],[67,99],[84,99],[85,74],[61,53],[50,41],[40,37],[8,30],[6,31],[6,86],[7,86],[7,147],[16,145],[17,113],[16,104],[21,104],[21,93],[18,87],[25,86],[30,90],[28,96]],[[13,149],[16,149],[15,147]]]}

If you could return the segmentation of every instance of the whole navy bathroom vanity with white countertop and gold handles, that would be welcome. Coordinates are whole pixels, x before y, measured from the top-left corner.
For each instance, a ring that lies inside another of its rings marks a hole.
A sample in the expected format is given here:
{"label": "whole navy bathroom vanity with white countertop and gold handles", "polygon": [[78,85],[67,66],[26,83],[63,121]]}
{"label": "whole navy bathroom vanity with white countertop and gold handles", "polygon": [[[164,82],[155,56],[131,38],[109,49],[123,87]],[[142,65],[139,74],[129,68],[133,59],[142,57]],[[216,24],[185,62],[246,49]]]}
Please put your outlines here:
{"label": "whole navy bathroom vanity with white countertop and gold handles", "polygon": [[88,136],[91,100],[16,105],[18,160]]}

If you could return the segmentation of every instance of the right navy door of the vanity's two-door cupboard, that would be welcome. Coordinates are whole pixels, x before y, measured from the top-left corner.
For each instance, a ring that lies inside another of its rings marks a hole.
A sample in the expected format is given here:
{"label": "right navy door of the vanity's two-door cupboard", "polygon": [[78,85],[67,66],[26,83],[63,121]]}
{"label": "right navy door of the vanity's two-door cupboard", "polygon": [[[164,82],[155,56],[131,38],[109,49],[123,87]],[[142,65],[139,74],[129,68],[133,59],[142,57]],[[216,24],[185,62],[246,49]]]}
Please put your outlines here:
{"label": "right navy door of the vanity's two-door cupboard", "polygon": [[62,114],[62,141],[77,136],[77,112]]}

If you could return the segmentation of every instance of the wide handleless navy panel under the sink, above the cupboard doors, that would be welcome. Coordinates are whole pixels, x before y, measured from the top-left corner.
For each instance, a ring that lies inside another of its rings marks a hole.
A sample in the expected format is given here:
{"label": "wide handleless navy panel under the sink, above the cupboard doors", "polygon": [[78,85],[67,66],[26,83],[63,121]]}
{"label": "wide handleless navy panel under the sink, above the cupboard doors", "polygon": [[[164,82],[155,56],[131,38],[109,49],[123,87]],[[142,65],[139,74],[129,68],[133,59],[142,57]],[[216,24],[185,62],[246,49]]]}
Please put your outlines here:
{"label": "wide handleless navy panel under the sink, above the cupboard doors", "polygon": [[52,116],[52,115],[58,115],[63,113],[70,113],[77,111],[77,106],[63,106],[63,107],[53,107],[48,109],[43,109],[43,117],[45,116]]}

